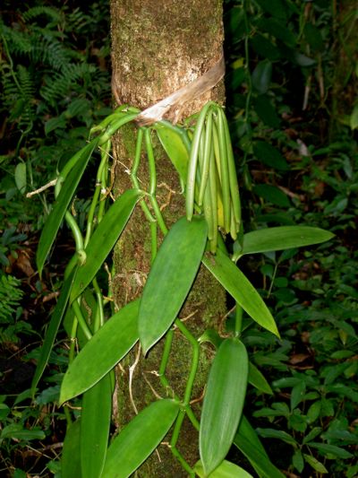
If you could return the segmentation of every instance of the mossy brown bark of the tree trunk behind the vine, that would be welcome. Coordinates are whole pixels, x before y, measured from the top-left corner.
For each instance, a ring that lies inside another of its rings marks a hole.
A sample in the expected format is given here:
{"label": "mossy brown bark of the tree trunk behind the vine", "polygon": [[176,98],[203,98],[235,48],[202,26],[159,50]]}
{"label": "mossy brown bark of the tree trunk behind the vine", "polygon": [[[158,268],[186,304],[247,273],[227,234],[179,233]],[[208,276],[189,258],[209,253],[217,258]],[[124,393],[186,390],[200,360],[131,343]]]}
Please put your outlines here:
{"label": "mossy brown bark of the tree trunk behind the vine", "polygon": [[[116,93],[123,103],[140,109],[148,108],[205,73],[221,56],[221,0],[112,0],[111,19]],[[192,104],[185,105],[180,117],[188,117],[200,110],[209,99],[224,100],[222,83]],[[115,194],[131,187],[125,171],[131,167],[134,147],[135,129],[128,126],[115,142]],[[141,163],[139,178],[145,187],[148,178],[145,158]],[[183,195],[180,194],[175,169],[159,146],[156,147],[156,164],[158,202],[166,224],[170,226],[184,214]],[[149,242],[149,223],[141,208],[137,207],[115,248],[113,290],[118,308],[141,294],[149,272]],[[190,316],[185,324],[199,337],[205,329],[217,327],[225,309],[224,291],[206,270],[200,270],[180,317]],[[155,394],[170,395],[170,391],[160,386],[156,375],[162,347],[163,343],[158,343],[146,359],[141,357],[132,378],[132,397],[129,394],[129,367],[135,361],[137,351],[132,352],[118,368],[118,414],[115,419],[119,428],[134,416],[134,405],[140,411],[155,399]],[[209,346],[204,347],[192,392],[192,398],[199,399],[194,405],[196,412],[200,409],[211,356]],[[191,358],[190,345],[182,335],[175,333],[167,376],[175,393],[181,396]],[[164,441],[168,439],[170,437]],[[198,435],[190,423],[185,422],[183,426],[178,448],[191,465],[198,459]],[[187,476],[166,445],[161,445],[158,453],[154,453],[137,473],[149,478]]]}

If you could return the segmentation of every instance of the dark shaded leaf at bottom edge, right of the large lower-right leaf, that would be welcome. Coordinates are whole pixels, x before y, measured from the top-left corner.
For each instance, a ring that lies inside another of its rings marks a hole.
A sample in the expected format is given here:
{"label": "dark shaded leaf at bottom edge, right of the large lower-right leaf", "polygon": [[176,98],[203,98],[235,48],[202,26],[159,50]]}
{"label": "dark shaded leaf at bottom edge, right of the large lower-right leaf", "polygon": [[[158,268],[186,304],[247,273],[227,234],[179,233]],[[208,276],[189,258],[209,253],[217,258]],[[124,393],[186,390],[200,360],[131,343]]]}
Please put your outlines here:
{"label": "dark shaded leaf at bottom edge, right of the large lower-right leaf", "polygon": [[275,465],[269,461],[265,449],[250,422],[243,416],[234,437],[234,445],[250,461],[256,473],[263,478],[285,478]]}

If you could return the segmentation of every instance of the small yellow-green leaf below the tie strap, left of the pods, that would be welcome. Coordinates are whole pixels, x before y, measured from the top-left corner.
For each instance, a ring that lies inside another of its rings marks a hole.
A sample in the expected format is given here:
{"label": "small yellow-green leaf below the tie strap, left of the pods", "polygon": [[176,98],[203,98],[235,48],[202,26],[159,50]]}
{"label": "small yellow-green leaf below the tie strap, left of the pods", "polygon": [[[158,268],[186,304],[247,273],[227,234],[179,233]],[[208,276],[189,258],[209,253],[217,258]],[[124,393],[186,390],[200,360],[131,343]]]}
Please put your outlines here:
{"label": "small yellow-green leaf below the tie strap, left of the pods", "polygon": [[164,151],[172,161],[179,177],[186,183],[188,174],[189,152],[183,143],[183,138],[172,127],[166,127],[163,124],[156,126],[156,131]]}

